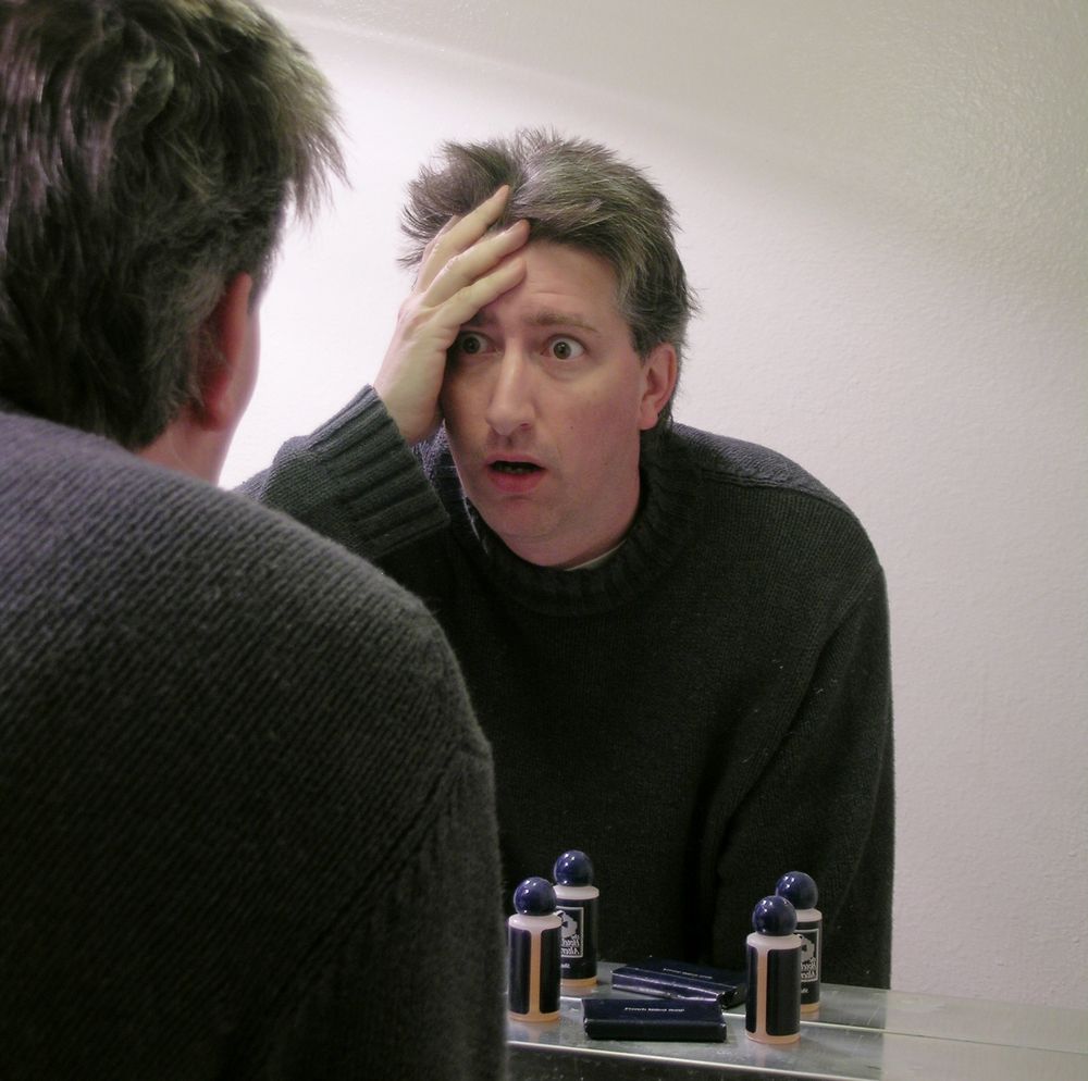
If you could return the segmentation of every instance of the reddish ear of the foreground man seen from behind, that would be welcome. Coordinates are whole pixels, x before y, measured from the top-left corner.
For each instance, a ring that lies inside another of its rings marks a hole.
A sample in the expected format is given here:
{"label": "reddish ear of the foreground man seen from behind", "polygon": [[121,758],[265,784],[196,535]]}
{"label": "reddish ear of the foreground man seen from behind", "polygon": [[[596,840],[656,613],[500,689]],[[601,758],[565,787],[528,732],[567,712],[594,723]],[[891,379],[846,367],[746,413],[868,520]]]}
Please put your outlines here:
{"label": "reddish ear of the foreground man seen from behind", "polygon": [[234,430],[257,378],[256,314],[250,310],[254,279],[235,274],[200,331],[199,405],[194,420],[202,427]]}

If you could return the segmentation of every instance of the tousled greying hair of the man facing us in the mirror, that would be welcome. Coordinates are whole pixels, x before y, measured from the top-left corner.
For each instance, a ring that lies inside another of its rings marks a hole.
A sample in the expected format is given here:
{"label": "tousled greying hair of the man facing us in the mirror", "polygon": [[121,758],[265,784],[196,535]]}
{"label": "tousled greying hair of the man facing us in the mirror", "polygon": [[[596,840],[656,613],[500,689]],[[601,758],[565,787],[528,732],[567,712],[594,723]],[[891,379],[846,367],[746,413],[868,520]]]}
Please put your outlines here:
{"label": "tousled greying hair of the man facing us in the mirror", "polygon": [[[698,306],[677,251],[672,207],[641,170],[586,139],[522,128],[509,138],[444,144],[408,187],[401,262],[417,266],[450,216],[503,184],[510,198],[496,228],[527,219],[530,241],[570,245],[607,260],[635,351],[645,357],[668,341],[682,357]],[[670,412],[671,402],[663,417]]]}

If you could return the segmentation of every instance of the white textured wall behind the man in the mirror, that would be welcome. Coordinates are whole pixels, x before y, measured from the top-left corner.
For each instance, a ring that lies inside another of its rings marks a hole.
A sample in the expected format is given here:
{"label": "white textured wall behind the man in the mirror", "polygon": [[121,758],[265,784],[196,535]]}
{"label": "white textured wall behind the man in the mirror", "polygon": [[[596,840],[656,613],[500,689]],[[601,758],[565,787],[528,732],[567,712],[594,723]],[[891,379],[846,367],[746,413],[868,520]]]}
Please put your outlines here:
{"label": "white textured wall behind the man in the mirror", "polygon": [[888,572],[894,986],[1088,1007],[1084,0],[282,0],[351,191],[296,236],[225,483],[376,371],[404,185],[554,125],[648,167],[705,314],[680,420],[772,446]]}

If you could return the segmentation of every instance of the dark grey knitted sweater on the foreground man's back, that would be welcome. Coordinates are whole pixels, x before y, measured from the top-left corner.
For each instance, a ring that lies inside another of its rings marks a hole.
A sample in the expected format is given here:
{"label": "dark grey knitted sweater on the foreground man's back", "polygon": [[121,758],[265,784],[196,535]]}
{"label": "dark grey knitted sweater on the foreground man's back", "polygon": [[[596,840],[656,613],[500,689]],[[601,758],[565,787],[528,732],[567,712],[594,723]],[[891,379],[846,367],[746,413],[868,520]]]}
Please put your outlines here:
{"label": "dark grey knitted sweater on the foreground man's back", "polygon": [[0,1076],[500,1077],[493,799],[418,600],[0,407]]}

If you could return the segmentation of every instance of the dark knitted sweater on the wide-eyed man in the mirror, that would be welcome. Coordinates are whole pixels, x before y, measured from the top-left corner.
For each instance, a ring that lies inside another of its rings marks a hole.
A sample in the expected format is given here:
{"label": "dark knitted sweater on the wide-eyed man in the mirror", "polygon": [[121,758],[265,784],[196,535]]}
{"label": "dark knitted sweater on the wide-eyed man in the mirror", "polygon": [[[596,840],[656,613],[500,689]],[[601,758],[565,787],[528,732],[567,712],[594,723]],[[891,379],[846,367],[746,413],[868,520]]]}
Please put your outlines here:
{"label": "dark knitted sweater on the wide-eyed man in the mirror", "polygon": [[514,556],[443,436],[363,394],[248,490],[369,555],[445,628],[495,756],[505,887],[592,858],[601,952],[741,967],[751,914],[816,880],[824,978],[887,986],[893,769],[883,575],[794,463],[680,425],[647,440],[623,545]]}

